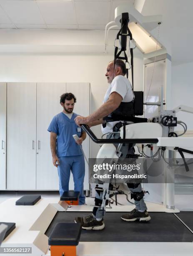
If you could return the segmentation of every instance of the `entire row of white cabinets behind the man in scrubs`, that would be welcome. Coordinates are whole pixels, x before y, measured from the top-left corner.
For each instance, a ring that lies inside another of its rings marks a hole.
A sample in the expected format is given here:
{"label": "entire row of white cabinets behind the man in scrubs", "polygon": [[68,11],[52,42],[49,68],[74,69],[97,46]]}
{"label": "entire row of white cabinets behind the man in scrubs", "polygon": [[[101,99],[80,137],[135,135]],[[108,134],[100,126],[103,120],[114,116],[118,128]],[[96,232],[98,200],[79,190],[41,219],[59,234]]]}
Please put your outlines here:
{"label": "entire row of white cabinets behind the man in scrubs", "polygon": [[[72,92],[77,98],[74,112],[90,113],[89,83],[6,83],[0,84],[0,189],[6,189],[6,94],[7,94],[7,189],[58,190],[58,170],[52,163],[48,126],[63,111],[60,96]],[[5,97],[2,97],[5,95]],[[2,137],[3,135],[3,137]],[[2,144],[1,144],[2,145]],[[89,157],[89,138],[83,142]],[[2,161],[4,159],[4,161]],[[84,189],[89,189],[88,166],[85,162]],[[74,189],[72,175],[69,189]]]}

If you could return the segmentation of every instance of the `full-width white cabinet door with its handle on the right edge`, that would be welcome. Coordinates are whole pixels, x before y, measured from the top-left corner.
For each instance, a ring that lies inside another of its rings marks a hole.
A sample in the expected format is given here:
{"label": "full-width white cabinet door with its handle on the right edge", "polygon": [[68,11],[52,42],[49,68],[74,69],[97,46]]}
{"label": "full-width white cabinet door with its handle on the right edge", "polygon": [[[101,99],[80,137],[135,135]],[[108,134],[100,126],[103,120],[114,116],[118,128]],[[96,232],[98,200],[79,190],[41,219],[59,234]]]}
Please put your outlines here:
{"label": "full-width white cabinet door with its handle on the right edge", "polygon": [[36,188],[36,83],[7,84],[7,189]]}

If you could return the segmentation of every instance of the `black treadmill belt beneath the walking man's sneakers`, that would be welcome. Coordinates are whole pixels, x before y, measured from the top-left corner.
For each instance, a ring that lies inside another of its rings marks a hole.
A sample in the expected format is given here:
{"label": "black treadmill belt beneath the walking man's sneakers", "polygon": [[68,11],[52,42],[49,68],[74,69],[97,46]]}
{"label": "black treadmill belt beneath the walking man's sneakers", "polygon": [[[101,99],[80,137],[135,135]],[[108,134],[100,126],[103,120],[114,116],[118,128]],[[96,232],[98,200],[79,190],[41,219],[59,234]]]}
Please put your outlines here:
{"label": "black treadmill belt beneath the walking man's sneakers", "polygon": [[[73,223],[77,216],[91,212],[57,212],[45,235],[59,222]],[[193,234],[172,213],[150,212],[148,223],[125,222],[120,216],[125,212],[106,212],[105,229],[82,230],[80,242],[192,242]]]}

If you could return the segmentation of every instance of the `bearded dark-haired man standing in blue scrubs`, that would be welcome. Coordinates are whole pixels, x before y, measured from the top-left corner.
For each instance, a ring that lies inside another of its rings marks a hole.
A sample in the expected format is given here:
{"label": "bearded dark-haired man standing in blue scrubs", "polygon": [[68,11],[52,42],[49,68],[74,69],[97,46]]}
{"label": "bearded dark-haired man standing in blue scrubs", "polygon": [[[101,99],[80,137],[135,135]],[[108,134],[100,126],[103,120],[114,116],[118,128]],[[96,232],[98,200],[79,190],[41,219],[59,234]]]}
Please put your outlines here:
{"label": "bearded dark-haired man standing in blue scrubs", "polygon": [[[65,93],[60,97],[60,105],[63,112],[55,115],[48,131],[50,132],[50,148],[53,157],[53,165],[58,167],[60,184],[60,196],[69,191],[70,170],[74,179],[74,191],[79,191],[79,205],[85,204],[84,177],[85,161],[80,145],[86,138],[86,133],[76,125],[73,113],[76,97],[72,93]],[[77,134],[79,139],[74,140]]]}

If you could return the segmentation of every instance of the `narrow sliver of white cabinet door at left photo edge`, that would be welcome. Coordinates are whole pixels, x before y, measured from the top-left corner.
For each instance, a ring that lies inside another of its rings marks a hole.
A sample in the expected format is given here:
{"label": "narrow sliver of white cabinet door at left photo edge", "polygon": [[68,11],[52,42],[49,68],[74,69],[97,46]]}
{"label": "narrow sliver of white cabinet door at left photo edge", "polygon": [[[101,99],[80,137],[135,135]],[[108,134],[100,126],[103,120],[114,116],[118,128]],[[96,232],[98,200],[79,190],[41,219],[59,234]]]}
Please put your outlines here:
{"label": "narrow sliver of white cabinet door at left photo edge", "polygon": [[6,189],[7,83],[0,83],[0,189]]}

